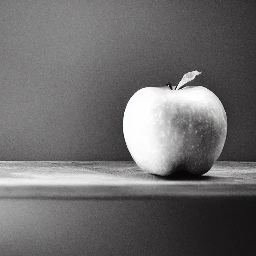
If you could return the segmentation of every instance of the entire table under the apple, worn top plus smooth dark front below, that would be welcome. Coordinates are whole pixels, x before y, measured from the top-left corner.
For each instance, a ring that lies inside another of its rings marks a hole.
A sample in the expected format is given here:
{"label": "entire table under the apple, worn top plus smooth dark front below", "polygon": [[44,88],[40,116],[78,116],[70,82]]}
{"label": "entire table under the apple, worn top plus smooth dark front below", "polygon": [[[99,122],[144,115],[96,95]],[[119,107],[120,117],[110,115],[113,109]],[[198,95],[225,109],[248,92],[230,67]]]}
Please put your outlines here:
{"label": "entire table under the apple, worn top plus smooth dark front below", "polygon": [[256,162],[0,162],[0,255],[256,255]]}

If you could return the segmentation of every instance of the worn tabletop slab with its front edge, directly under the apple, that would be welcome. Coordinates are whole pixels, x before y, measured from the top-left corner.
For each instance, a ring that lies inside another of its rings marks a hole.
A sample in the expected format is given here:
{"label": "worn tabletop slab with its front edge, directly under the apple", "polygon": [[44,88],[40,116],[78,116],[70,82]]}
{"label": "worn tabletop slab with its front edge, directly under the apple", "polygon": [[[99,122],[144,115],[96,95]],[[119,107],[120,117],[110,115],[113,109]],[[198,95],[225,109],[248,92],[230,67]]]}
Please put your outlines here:
{"label": "worn tabletop slab with its front edge, directly under the apple", "polygon": [[256,162],[216,162],[203,176],[160,177],[132,161],[0,162],[0,198],[256,196]]}

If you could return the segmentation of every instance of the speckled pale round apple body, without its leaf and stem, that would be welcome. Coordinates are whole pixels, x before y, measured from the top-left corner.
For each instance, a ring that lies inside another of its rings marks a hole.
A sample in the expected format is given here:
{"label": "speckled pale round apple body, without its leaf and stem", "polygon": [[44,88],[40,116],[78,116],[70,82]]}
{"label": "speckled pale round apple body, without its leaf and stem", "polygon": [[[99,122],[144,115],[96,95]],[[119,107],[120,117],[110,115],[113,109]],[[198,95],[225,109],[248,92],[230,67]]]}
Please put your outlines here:
{"label": "speckled pale round apple body, without its leaf and stem", "polygon": [[127,148],[144,171],[208,172],[220,156],[227,116],[219,98],[202,86],[146,87],[128,101],[123,117]]}

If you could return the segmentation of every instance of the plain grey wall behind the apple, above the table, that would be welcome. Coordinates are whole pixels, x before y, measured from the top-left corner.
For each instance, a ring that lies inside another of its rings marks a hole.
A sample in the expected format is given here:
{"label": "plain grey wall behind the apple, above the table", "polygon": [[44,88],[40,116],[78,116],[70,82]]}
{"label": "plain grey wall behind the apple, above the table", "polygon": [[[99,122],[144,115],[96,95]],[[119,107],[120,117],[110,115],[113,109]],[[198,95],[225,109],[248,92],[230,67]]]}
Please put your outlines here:
{"label": "plain grey wall behind the apple, above the table", "polygon": [[197,69],[228,116],[219,160],[256,161],[255,12],[254,0],[0,0],[0,160],[131,160],[129,98]]}

